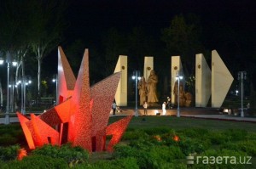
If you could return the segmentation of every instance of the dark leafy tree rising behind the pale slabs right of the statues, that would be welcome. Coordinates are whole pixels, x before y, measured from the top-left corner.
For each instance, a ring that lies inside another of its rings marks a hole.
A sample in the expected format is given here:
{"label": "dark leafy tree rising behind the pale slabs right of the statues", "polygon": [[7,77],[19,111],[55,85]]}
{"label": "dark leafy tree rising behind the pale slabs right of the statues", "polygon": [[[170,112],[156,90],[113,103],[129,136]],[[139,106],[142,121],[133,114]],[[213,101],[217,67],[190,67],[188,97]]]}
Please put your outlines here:
{"label": "dark leafy tree rising behind the pale slabs right of the statues", "polygon": [[162,31],[162,40],[166,42],[167,54],[180,55],[183,70],[191,75],[195,70],[195,54],[204,52],[201,44],[201,26],[199,19],[190,14],[186,20],[183,15],[176,15],[170,27]]}

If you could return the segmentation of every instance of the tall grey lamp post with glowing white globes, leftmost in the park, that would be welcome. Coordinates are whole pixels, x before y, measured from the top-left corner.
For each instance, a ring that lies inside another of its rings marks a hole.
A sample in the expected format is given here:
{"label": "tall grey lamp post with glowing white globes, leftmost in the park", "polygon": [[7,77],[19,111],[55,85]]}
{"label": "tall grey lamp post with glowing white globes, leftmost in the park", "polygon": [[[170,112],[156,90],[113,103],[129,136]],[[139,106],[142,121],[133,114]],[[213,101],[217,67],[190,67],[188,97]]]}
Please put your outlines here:
{"label": "tall grey lamp post with glowing white globes, leftmost in the park", "polygon": [[[2,53],[1,53],[2,55]],[[0,65],[3,65],[4,59],[0,56]],[[6,99],[6,111],[5,111],[5,124],[9,124],[9,67],[11,62],[11,56],[9,52],[6,54],[6,63],[7,63],[7,99]],[[12,64],[15,66],[17,62],[14,60]]]}

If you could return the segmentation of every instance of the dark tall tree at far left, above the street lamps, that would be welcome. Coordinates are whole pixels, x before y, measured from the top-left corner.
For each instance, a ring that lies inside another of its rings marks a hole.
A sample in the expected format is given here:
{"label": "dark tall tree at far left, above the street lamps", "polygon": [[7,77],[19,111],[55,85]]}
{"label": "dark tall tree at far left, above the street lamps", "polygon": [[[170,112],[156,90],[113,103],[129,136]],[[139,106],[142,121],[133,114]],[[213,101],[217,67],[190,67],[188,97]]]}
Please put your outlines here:
{"label": "dark tall tree at far left, above the street lamps", "polygon": [[[16,68],[15,82],[17,82],[20,70],[22,70],[22,76],[25,76],[22,60],[26,57],[30,39],[26,25],[27,18],[29,18],[26,9],[26,0],[3,1],[0,5],[0,22],[4,23],[0,28],[0,46],[9,61],[15,59],[19,62]],[[21,67],[22,69],[20,69]],[[12,67],[10,70],[13,71]],[[10,79],[13,79],[13,74],[10,75]]]}

